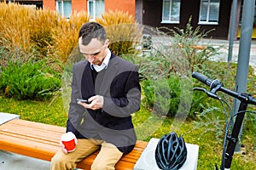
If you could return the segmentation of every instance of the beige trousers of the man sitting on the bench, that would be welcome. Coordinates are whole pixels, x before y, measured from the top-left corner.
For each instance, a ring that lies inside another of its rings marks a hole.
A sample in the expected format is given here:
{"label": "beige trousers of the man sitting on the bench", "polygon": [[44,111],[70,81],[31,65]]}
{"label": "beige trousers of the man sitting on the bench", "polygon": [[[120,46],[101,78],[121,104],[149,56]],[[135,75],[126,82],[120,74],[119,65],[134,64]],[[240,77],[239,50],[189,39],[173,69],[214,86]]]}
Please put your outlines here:
{"label": "beige trousers of the man sitting on the bench", "polygon": [[62,150],[57,151],[51,159],[51,170],[69,170],[76,167],[77,162],[89,156],[96,150],[100,150],[93,161],[91,170],[113,170],[123,153],[113,144],[96,139],[78,139],[76,149],[67,155]]}

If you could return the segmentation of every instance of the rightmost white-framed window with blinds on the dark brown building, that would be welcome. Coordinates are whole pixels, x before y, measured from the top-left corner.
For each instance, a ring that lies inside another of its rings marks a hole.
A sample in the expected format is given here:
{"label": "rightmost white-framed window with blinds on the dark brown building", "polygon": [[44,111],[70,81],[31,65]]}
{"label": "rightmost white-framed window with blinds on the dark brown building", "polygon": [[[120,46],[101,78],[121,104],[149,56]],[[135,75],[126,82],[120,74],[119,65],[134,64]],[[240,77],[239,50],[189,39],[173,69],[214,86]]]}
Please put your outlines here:
{"label": "rightmost white-framed window with blinds on the dark brown building", "polygon": [[220,0],[201,0],[199,24],[218,24]]}

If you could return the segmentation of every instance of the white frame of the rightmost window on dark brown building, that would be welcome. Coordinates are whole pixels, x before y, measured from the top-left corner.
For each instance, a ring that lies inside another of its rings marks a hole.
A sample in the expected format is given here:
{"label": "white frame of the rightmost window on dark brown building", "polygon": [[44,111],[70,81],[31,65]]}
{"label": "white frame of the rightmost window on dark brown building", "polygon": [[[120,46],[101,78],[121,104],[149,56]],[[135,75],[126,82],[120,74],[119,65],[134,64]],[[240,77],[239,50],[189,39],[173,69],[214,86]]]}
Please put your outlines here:
{"label": "white frame of the rightmost window on dark brown building", "polygon": [[[206,1],[206,0],[205,0]],[[198,25],[218,25],[219,21],[219,12],[220,12],[220,0],[218,0],[218,21],[209,21],[210,20],[210,11],[211,11],[211,1],[212,0],[207,0],[207,21],[201,21],[201,13],[202,13],[202,3],[203,0],[201,0],[200,3],[200,12],[199,12],[199,19],[198,19]],[[215,0],[216,1],[216,0]]]}

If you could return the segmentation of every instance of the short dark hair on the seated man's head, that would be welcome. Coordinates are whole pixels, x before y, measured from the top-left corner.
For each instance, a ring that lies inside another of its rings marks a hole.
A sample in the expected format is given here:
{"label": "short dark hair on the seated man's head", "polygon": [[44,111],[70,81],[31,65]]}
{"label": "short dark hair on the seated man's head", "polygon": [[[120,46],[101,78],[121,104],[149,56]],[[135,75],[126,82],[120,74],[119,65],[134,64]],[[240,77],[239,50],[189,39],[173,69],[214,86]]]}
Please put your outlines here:
{"label": "short dark hair on the seated man's head", "polygon": [[83,45],[88,45],[92,38],[96,38],[102,43],[107,39],[104,27],[96,22],[85,23],[79,31],[79,37],[82,37]]}

